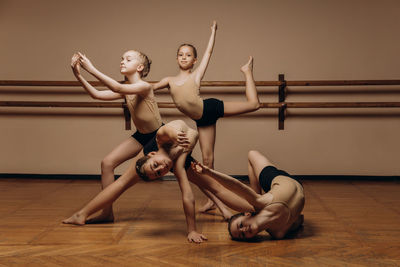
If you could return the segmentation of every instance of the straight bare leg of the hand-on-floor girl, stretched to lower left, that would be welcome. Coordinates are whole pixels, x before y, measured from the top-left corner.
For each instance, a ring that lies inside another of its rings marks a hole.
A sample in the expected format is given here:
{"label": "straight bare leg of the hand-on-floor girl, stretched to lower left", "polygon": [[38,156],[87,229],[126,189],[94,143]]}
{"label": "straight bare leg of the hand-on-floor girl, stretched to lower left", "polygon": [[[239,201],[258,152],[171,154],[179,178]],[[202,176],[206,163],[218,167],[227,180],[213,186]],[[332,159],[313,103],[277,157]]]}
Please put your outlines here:
{"label": "straight bare leg of the hand-on-floor girl, stretched to lower left", "polygon": [[63,223],[84,225],[90,215],[110,206],[123,192],[138,182],[139,177],[134,168],[135,163],[135,161],[132,161],[128,170],[118,180],[107,186],[81,210],[65,219]]}

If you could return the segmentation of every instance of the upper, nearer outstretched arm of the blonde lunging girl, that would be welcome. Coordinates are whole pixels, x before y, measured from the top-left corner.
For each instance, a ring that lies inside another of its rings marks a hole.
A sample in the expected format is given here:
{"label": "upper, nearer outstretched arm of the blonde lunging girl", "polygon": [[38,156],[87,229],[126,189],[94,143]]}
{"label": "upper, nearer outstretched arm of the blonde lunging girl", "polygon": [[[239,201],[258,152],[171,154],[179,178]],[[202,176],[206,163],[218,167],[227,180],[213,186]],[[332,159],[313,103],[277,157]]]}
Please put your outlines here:
{"label": "upper, nearer outstretched arm of the blonde lunging girl", "polygon": [[96,79],[107,86],[111,91],[120,94],[145,94],[151,90],[151,85],[147,82],[140,81],[135,84],[121,84],[116,80],[108,77],[104,73],[96,69],[92,62],[83,54],[79,53],[79,61],[82,67],[92,74]]}

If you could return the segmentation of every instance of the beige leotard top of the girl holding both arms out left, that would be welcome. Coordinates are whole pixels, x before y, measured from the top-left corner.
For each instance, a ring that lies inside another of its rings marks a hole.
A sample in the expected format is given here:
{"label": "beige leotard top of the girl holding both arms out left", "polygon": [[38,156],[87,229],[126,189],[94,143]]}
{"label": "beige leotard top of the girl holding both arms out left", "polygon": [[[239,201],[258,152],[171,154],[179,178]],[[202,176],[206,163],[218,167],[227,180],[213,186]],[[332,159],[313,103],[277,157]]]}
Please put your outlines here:
{"label": "beige leotard top of the girl holding both arms out left", "polygon": [[136,129],[143,134],[161,127],[162,120],[153,96],[125,95],[126,103]]}

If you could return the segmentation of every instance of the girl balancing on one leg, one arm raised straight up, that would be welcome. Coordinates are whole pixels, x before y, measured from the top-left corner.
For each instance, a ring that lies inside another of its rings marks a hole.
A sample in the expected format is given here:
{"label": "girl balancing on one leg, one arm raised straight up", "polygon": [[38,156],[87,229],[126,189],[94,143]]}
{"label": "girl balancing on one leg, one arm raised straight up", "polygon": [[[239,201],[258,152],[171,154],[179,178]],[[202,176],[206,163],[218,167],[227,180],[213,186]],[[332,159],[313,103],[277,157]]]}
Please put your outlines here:
{"label": "girl balancing on one leg, one arm raised straight up", "polygon": [[[253,79],[253,58],[241,67],[246,79],[246,98],[243,102],[223,102],[219,99],[209,98],[203,100],[200,97],[200,82],[210,61],[214,47],[217,23],[214,21],[211,27],[211,36],[207,49],[200,65],[193,70],[197,62],[196,48],[191,44],[182,44],[177,51],[179,73],[174,77],[166,77],[156,83],[154,90],[169,88],[176,107],[185,115],[192,118],[199,131],[200,149],[203,163],[209,168],[214,168],[214,146],[216,135],[216,122],[220,117],[233,116],[252,112],[260,108],[256,86]],[[231,214],[226,209],[221,209],[223,216],[228,219]],[[213,203],[208,203],[200,209],[205,212],[214,208]]]}

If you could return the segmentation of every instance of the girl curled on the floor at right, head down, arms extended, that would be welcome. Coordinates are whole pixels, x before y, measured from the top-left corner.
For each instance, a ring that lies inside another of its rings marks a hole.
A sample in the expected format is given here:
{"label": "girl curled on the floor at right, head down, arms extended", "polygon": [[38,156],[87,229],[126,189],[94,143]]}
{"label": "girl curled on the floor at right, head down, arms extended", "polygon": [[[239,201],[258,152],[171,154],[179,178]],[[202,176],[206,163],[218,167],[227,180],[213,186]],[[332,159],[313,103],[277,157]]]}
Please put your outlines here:
{"label": "girl curled on the floor at right, head down, arms extended", "polygon": [[[192,163],[192,172],[188,176],[194,176],[193,180],[203,183],[202,186],[208,187],[233,209],[243,211],[243,207],[248,206],[248,212],[236,214],[229,220],[228,231],[232,239],[250,239],[263,230],[281,239],[288,232],[297,230],[304,220],[301,183],[287,172],[278,170],[258,151],[249,152],[248,167],[250,187],[201,163]],[[219,184],[210,181],[210,177]],[[226,189],[242,198],[227,196]],[[261,189],[266,193],[262,194]]]}

